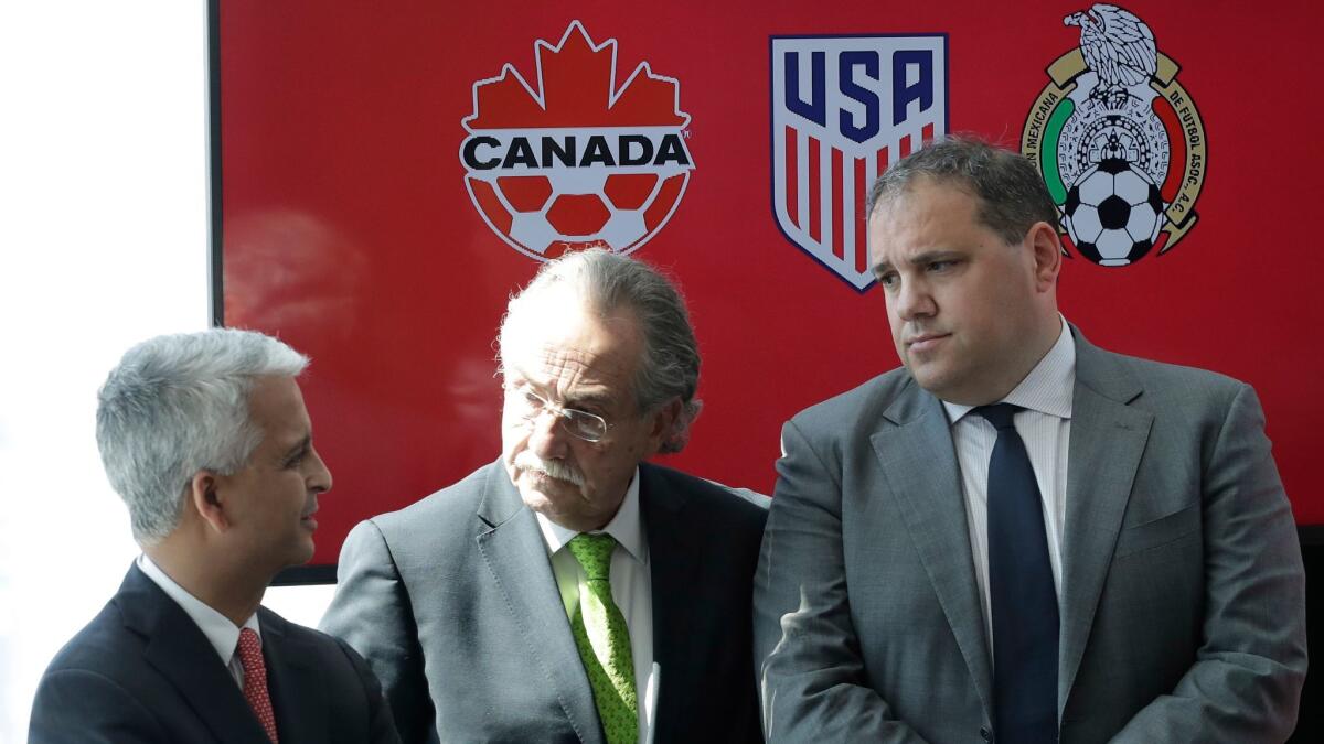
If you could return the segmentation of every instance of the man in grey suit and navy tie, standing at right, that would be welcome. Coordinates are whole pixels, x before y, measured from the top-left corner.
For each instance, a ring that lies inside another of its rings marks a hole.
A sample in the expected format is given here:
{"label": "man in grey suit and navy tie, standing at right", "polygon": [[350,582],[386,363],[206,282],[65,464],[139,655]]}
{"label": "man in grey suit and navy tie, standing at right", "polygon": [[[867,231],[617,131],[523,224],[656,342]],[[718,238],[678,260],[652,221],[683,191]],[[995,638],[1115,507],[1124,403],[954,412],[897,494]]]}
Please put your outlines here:
{"label": "man in grey suit and navy tie, standing at right", "polygon": [[903,367],[809,408],[755,580],[771,741],[1282,741],[1304,580],[1254,391],[1057,308],[1019,155],[951,139],[870,192]]}

